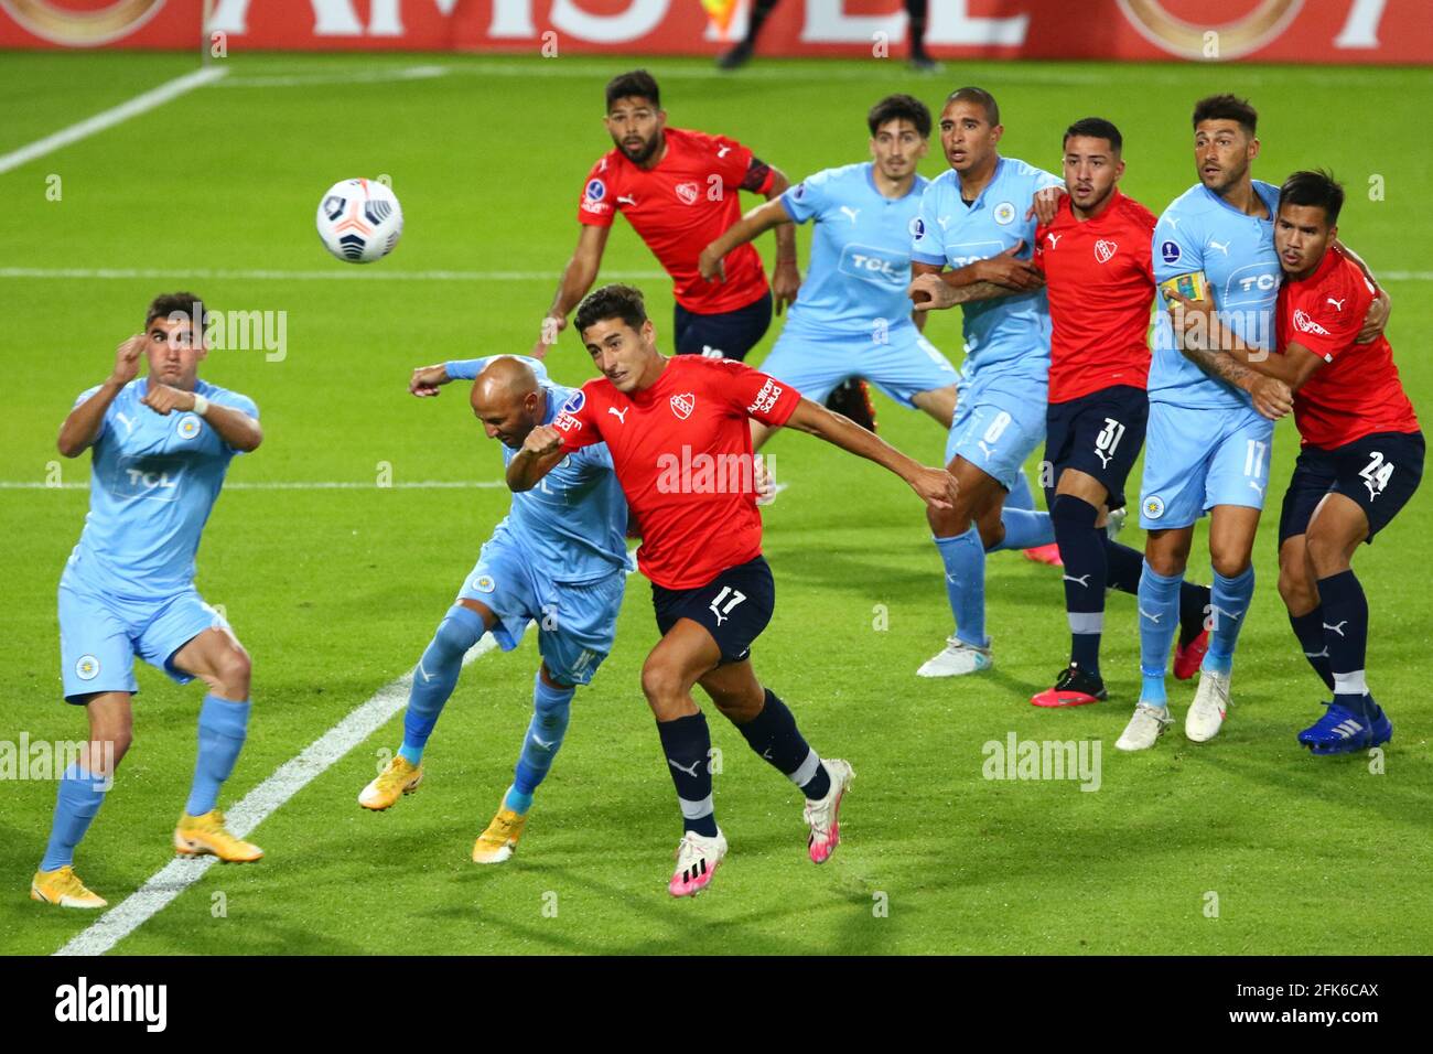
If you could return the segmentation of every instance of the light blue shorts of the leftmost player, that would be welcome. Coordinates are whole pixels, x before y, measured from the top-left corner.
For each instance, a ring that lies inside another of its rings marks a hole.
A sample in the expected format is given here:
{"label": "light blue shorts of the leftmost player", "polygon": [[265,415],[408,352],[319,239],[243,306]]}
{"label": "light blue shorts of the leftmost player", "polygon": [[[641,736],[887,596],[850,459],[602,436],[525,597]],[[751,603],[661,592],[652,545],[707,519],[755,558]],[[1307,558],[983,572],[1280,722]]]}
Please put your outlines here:
{"label": "light blue shorts of the leftmost player", "polygon": [[155,599],[102,595],[69,571],[60,576],[60,674],[64,698],[99,691],[139,691],[135,655],[163,670],[178,684],[193,675],[171,660],[224,617],[192,585]]}

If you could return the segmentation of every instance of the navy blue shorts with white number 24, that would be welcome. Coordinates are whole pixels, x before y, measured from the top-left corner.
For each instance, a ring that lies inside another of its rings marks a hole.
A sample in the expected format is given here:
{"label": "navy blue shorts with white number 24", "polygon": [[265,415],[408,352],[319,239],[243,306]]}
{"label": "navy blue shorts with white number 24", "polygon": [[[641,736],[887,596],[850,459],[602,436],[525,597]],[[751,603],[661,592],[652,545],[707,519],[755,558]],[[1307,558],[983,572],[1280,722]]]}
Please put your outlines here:
{"label": "navy blue shorts with white number 24", "polygon": [[1419,489],[1423,449],[1422,432],[1376,432],[1333,450],[1305,446],[1284,492],[1278,543],[1308,531],[1308,521],[1327,493],[1358,502],[1369,518],[1364,541],[1371,542]]}

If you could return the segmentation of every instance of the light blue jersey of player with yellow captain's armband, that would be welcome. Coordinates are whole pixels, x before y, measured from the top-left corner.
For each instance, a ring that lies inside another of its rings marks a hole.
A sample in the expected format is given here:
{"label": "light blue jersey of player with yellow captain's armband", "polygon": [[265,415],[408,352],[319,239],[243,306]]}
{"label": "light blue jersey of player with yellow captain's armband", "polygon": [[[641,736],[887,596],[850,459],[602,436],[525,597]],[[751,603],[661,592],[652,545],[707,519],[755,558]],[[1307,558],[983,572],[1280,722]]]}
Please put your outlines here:
{"label": "light blue jersey of player with yellow captain's armband", "polygon": [[[1280,284],[1273,221],[1278,211],[1278,188],[1255,179],[1254,191],[1268,208],[1267,219],[1237,211],[1204,184],[1176,198],[1155,227],[1155,281],[1204,271],[1219,321],[1247,344],[1273,350]],[[1155,320],[1149,402],[1188,407],[1251,406],[1245,391],[1209,377],[1175,347],[1164,294]]]}

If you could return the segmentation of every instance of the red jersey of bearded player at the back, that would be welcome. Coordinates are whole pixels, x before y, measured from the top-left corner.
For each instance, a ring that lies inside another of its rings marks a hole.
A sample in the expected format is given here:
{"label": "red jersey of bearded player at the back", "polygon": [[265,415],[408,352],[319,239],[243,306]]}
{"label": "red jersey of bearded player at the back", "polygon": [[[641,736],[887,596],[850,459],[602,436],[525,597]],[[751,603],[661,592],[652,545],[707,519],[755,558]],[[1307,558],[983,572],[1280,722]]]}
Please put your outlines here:
{"label": "red jersey of bearded player at the back", "polygon": [[[751,151],[735,139],[668,128],[666,155],[648,171],[612,148],[588,172],[577,222],[610,227],[620,212],[672,275],[676,303],[696,314],[735,311],[761,300],[767,272],[749,242],[727,257],[727,281],[709,283],[696,258],[718,235],[741,219],[741,188],[751,169]],[[771,169],[758,186],[771,189]]]}

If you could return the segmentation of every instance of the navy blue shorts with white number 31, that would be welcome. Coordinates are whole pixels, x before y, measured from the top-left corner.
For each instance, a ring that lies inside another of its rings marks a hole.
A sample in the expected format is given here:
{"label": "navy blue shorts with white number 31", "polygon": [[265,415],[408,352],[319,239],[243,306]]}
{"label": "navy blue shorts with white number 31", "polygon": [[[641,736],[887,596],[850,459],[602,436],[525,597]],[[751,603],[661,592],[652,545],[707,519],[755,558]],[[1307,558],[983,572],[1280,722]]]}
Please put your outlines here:
{"label": "navy blue shorts with white number 31", "polygon": [[1053,505],[1060,473],[1076,469],[1101,482],[1111,509],[1123,508],[1125,480],[1145,445],[1148,423],[1149,394],[1129,384],[1050,403],[1045,412],[1046,502]]}

